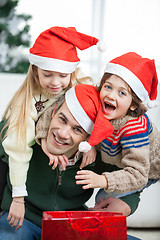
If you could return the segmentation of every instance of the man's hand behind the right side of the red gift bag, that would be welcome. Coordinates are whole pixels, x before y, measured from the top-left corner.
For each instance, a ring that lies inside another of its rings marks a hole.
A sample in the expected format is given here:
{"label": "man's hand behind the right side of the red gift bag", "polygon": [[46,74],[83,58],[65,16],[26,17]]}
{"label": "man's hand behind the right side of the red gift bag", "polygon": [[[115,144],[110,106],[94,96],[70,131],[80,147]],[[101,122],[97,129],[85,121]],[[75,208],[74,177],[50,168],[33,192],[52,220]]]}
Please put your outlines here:
{"label": "man's hand behind the right side of the red gift bag", "polygon": [[121,212],[125,216],[129,216],[131,208],[119,198],[100,199],[100,203],[96,203],[95,207],[89,208],[90,211],[105,211],[105,212]]}

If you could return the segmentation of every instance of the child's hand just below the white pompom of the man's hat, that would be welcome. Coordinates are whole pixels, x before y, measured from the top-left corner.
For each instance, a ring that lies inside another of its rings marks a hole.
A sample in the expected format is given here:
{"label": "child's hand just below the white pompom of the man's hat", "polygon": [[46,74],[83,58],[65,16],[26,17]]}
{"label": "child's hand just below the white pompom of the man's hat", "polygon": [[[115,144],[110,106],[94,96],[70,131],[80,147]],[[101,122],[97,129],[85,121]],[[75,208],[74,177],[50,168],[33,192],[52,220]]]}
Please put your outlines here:
{"label": "child's hand just below the white pompom of the man's hat", "polygon": [[91,150],[87,153],[83,153],[82,163],[80,165],[80,169],[84,168],[85,166],[93,163],[96,159],[97,151],[96,147],[92,147]]}

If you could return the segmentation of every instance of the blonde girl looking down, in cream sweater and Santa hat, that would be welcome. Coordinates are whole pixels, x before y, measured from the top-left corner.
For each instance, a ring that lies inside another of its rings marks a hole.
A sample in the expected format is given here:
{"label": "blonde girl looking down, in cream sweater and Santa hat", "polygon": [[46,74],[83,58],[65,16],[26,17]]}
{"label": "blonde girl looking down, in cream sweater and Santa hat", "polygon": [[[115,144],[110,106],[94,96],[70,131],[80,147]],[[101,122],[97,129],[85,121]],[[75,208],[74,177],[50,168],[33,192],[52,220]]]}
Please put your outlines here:
{"label": "blonde girl looking down, in cream sweater and Santa hat", "polygon": [[77,68],[80,59],[76,47],[83,50],[98,39],[75,28],[52,27],[42,32],[30,49],[30,67],[26,79],[11,99],[3,120],[7,129],[3,146],[9,155],[12,197],[8,221],[17,229],[23,223],[25,186],[31,146],[35,141],[35,123],[40,115],[72,85],[92,84]]}

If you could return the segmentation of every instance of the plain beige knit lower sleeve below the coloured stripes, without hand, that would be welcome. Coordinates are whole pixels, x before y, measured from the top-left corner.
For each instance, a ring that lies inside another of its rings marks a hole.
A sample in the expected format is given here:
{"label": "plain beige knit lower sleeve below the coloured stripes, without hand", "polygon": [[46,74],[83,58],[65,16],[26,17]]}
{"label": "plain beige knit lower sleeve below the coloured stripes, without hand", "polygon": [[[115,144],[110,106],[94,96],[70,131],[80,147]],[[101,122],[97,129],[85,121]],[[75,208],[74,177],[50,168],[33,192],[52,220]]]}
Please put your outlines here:
{"label": "plain beige knit lower sleeve below the coloured stripes, without hand", "polygon": [[123,169],[111,173],[104,172],[108,181],[107,192],[131,192],[142,189],[148,181],[150,169],[149,145],[123,150]]}

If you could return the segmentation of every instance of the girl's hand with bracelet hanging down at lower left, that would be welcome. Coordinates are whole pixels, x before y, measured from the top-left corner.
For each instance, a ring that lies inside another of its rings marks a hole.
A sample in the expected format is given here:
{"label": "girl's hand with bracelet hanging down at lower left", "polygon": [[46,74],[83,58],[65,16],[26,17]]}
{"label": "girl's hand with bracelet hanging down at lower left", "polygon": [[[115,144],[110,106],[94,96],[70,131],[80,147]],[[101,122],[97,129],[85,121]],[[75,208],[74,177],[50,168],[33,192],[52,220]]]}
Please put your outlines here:
{"label": "girl's hand with bracelet hanging down at lower left", "polygon": [[15,197],[12,200],[7,220],[12,227],[18,230],[22,227],[25,214],[24,197]]}

